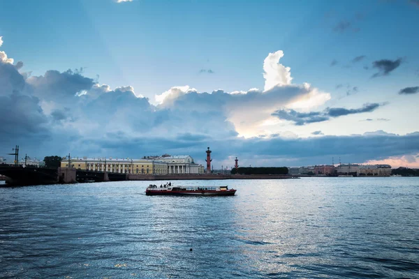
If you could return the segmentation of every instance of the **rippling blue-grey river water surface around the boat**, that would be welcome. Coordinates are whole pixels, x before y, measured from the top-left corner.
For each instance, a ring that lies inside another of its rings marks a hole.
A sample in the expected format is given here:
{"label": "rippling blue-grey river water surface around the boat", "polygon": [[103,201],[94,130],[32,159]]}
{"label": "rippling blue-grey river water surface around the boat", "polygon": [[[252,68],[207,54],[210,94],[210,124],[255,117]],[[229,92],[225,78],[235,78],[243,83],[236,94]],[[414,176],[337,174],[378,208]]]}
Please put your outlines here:
{"label": "rippling blue-grey river water surface around the boat", "polygon": [[0,188],[0,278],[419,278],[419,178],[179,183]]}

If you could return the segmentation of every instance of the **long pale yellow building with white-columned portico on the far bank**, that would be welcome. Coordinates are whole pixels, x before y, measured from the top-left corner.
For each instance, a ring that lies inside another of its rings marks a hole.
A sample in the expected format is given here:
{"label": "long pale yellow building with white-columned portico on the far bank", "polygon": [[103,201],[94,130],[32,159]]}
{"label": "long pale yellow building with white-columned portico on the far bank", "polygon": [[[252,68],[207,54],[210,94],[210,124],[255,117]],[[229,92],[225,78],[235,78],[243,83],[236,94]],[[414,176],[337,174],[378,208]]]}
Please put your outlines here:
{"label": "long pale yellow building with white-columned portico on the far bank", "polygon": [[204,167],[193,163],[191,156],[153,156],[142,159],[131,158],[87,158],[64,157],[61,167],[75,167],[98,172],[119,174],[202,174]]}

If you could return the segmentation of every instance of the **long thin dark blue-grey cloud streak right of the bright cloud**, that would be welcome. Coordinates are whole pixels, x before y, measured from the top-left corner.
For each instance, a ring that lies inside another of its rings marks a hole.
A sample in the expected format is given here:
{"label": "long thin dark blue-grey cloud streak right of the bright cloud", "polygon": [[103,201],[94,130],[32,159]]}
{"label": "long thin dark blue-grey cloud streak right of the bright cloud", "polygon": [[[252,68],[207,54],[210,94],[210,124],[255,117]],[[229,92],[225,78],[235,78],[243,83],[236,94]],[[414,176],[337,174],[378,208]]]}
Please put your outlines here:
{"label": "long thin dark blue-grey cloud streak right of the bright cloud", "polygon": [[346,109],[344,107],[328,107],[323,112],[296,112],[295,110],[277,110],[272,116],[279,119],[293,121],[295,125],[302,126],[308,123],[328,121],[330,118],[345,116],[349,114],[360,114],[364,112],[373,112],[382,104],[366,103],[358,109]]}

